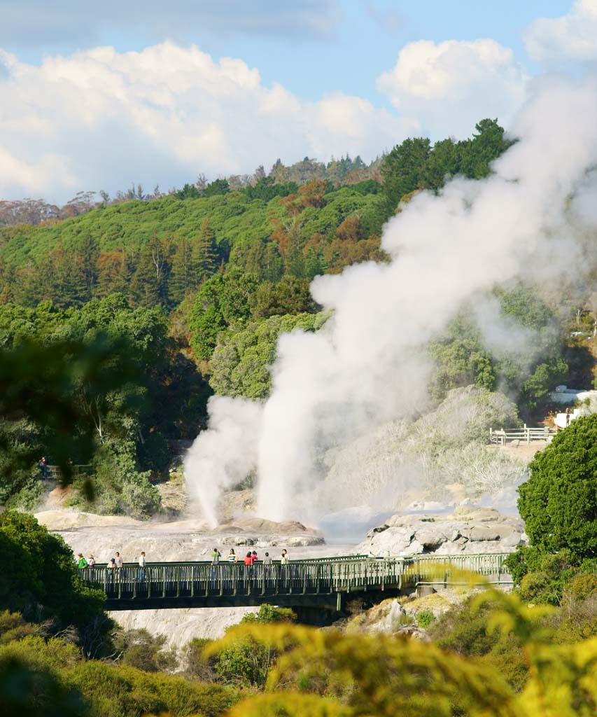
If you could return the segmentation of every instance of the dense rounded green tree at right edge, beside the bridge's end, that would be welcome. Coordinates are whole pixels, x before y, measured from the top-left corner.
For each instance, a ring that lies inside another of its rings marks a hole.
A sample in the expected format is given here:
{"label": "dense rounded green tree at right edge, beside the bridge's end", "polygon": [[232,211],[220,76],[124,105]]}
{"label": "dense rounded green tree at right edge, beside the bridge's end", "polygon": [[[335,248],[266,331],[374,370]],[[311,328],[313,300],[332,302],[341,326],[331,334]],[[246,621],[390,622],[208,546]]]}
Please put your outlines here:
{"label": "dense rounded green tree at right edge, beside the bridge's end", "polygon": [[518,509],[533,546],[569,549],[575,559],[597,551],[597,414],[580,417],[530,463]]}

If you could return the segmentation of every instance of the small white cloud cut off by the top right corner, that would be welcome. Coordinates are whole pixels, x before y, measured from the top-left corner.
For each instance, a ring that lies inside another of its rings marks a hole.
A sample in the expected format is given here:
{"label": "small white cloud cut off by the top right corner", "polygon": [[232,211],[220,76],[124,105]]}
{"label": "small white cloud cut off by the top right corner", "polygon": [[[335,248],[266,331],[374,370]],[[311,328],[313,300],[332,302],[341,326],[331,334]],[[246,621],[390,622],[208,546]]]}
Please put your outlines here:
{"label": "small white cloud cut off by the top right corner", "polygon": [[566,15],[536,19],[524,39],[530,57],[545,65],[597,60],[597,0],[576,0]]}

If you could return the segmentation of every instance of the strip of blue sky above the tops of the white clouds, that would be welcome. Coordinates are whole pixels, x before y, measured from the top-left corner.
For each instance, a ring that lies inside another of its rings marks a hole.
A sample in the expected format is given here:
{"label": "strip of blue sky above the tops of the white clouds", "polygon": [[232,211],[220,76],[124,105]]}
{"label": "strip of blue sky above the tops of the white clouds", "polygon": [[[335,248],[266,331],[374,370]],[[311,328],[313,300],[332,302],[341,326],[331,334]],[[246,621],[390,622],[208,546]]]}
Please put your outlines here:
{"label": "strip of blue sky above the tops of the white clouds", "polygon": [[[376,77],[396,62],[403,45],[419,39],[491,37],[514,49],[517,59],[536,72],[525,52],[522,30],[535,17],[564,14],[571,3],[298,0],[287,3],[293,9],[285,14],[279,10],[284,0],[124,4],[130,10],[122,19],[123,3],[113,0],[94,6],[80,0],[0,0],[0,47],[39,64],[44,54],[70,54],[100,44],[127,52],[174,39],[197,44],[214,57],[241,57],[259,69],[264,82],[281,82],[307,100],[341,91],[383,103]],[[214,11],[218,5],[221,10]],[[56,6],[62,7],[59,15]],[[175,13],[178,18],[172,17]],[[277,22],[264,20],[272,15],[279,16]],[[55,24],[49,22],[52,16]]]}

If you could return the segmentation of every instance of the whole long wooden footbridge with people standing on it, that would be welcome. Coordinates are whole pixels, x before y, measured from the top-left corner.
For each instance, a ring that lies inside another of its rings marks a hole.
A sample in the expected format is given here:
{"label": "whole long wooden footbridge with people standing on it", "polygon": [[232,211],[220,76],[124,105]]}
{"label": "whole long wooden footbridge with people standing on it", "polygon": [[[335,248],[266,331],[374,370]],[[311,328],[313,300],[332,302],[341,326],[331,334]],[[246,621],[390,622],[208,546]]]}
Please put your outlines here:
{"label": "whole long wooden footbridge with people standing on it", "polygon": [[[258,562],[148,563],[145,568],[96,565],[80,570],[82,579],[101,587],[106,609],[172,607],[235,607],[264,602],[288,607],[327,607],[340,610],[353,593],[412,592],[421,586],[462,584],[456,571],[471,571],[492,584],[510,586],[504,561],[507,553],[460,556],[371,558],[347,556],[292,561],[271,566]],[[363,596],[364,597],[364,596]]]}

